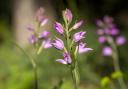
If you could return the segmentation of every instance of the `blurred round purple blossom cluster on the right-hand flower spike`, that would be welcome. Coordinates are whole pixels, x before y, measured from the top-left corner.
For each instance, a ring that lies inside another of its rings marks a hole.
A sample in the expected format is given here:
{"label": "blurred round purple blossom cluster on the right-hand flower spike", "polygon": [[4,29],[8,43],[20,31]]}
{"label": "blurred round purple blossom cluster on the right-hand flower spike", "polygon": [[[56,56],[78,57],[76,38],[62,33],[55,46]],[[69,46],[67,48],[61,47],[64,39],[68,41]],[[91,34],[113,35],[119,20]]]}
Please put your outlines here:
{"label": "blurred round purple blossom cluster on the right-hand flower spike", "polygon": [[[126,42],[125,37],[120,35],[119,29],[113,23],[113,18],[105,16],[103,20],[97,20],[96,25],[98,26],[97,34],[99,35],[99,43],[108,43],[108,41],[110,41],[108,36],[113,38],[114,42],[118,46],[123,45]],[[110,46],[105,46],[102,53],[104,56],[111,56],[112,48]]]}

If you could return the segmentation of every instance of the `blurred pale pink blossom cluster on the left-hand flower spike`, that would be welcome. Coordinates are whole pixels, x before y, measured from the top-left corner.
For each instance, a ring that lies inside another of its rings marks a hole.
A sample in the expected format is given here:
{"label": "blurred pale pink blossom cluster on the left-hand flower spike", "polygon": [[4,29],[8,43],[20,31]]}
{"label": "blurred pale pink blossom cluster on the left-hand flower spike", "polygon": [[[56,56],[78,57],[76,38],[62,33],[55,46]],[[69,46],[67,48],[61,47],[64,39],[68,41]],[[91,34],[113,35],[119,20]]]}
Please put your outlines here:
{"label": "blurred pale pink blossom cluster on the left-hand flower spike", "polygon": [[31,35],[29,37],[29,42],[35,46],[40,46],[42,45],[43,48],[50,48],[52,47],[51,45],[51,39],[49,38],[50,32],[47,30],[41,30],[41,28],[47,24],[48,19],[44,15],[44,9],[40,8],[35,15],[36,19],[36,27],[34,28],[33,25],[29,25],[27,27],[28,31],[31,32]]}

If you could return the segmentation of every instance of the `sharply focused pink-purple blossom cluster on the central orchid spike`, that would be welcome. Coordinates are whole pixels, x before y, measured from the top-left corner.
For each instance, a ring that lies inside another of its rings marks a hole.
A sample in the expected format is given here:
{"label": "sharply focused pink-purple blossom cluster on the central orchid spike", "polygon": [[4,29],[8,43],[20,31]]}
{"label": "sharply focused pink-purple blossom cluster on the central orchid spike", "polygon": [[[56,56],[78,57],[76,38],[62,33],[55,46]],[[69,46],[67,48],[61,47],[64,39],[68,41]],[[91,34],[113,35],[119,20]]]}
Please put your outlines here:
{"label": "sharply focused pink-purple blossom cluster on the central orchid spike", "polygon": [[62,37],[65,38],[66,42],[64,43],[62,39],[56,37],[52,45],[56,49],[61,50],[63,55],[63,59],[57,59],[56,61],[62,64],[71,64],[72,53],[86,53],[92,50],[92,48],[87,48],[86,44],[82,42],[82,39],[85,38],[86,32],[79,31],[77,33],[74,33],[74,35],[71,34],[72,31],[75,31],[76,29],[80,28],[80,26],[83,24],[83,20],[78,21],[73,26],[71,26],[70,23],[72,22],[73,15],[69,9],[63,11],[63,19],[65,24],[55,22],[54,29],[57,33],[59,33]]}

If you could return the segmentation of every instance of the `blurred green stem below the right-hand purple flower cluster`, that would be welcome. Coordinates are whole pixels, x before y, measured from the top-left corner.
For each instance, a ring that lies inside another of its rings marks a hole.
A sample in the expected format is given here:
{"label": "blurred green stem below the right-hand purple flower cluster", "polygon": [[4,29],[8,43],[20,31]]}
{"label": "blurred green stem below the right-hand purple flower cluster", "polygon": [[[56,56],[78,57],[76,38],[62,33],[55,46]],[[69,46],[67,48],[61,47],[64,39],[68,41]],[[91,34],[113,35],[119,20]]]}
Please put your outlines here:
{"label": "blurred green stem below the right-hand purple flower cluster", "polygon": [[[112,38],[108,37],[108,40],[109,40],[109,44],[113,48],[112,57],[113,57],[113,64],[114,64],[115,72],[121,72],[120,65],[119,65],[118,50],[117,50],[116,44],[114,43]],[[123,80],[123,77],[119,77],[118,82],[120,84],[121,89],[127,89],[125,82]]]}

